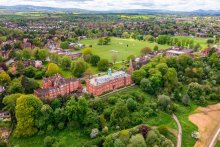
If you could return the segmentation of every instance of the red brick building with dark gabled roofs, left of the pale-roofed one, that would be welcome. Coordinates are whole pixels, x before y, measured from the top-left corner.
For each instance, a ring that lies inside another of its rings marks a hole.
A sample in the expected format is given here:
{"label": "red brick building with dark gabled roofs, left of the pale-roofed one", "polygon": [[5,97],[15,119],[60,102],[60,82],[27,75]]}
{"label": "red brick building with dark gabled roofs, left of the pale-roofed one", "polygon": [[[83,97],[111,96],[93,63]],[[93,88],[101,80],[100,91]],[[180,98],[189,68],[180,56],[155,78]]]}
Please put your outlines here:
{"label": "red brick building with dark gabled roofs, left of the pale-roofed one", "polygon": [[82,91],[80,80],[74,78],[65,79],[59,74],[44,78],[42,82],[42,89],[34,91],[34,95],[41,99],[52,100],[58,95],[68,95],[72,92]]}

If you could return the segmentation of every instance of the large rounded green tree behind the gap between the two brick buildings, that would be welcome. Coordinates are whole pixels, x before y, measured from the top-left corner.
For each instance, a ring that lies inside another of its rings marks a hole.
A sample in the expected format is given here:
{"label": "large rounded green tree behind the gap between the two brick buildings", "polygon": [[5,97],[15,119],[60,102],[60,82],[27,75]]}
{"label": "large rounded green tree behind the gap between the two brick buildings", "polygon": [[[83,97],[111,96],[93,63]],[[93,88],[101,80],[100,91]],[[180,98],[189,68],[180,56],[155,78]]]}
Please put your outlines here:
{"label": "large rounded green tree behind the gap between the two brick buildings", "polygon": [[71,71],[75,77],[82,77],[87,69],[87,64],[82,59],[78,59],[71,64]]}

